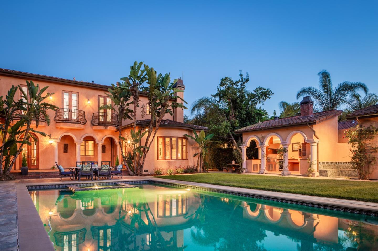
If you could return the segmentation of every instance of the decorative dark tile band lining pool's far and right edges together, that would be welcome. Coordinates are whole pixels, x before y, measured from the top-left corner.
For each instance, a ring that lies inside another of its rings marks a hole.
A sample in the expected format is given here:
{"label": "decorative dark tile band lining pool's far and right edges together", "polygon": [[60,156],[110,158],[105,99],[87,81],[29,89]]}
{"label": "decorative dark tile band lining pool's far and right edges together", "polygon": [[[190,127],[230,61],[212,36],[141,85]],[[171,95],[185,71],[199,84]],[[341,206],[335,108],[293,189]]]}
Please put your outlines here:
{"label": "decorative dark tile band lining pool's far and right edges together", "polygon": [[182,185],[182,184],[174,184],[174,183],[150,181],[150,180],[86,182],[86,183],[50,184],[50,185],[27,185],[26,188],[28,188],[29,191],[33,191],[33,190],[66,189],[67,185],[75,185],[77,187],[93,187],[95,185],[115,185],[115,184],[118,184],[118,183],[126,183],[126,184],[130,184],[130,185],[143,185],[143,184],[167,185],[167,186],[171,186],[171,187],[178,187],[178,188],[184,188],[184,189],[189,188],[189,189],[199,190],[199,191],[223,193],[223,194],[229,194],[229,195],[249,197],[249,198],[253,198],[253,199],[269,200],[269,201],[287,203],[287,204],[292,204],[292,205],[300,205],[300,206],[304,206],[304,207],[313,207],[313,208],[327,210],[327,211],[340,211],[340,212],[344,212],[344,213],[362,214],[362,215],[366,215],[366,216],[378,217],[378,213],[375,213],[373,211],[368,211],[368,210],[356,210],[356,209],[353,210],[351,208],[335,207],[335,206],[330,206],[330,205],[326,205],[326,204],[318,204],[318,203],[308,203],[308,202],[302,202],[302,201],[299,201],[299,200],[279,199],[279,198],[270,197],[270,196],[258,196],[258,195],[254,195],[254,194],[237,193],[237,192],[224,191],[224,190],[219,190],[219,189],[214,189],[214,188],[206,188],[206,187],[200,187],[200,186]]}

